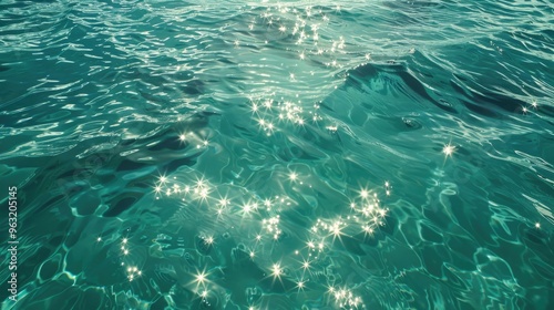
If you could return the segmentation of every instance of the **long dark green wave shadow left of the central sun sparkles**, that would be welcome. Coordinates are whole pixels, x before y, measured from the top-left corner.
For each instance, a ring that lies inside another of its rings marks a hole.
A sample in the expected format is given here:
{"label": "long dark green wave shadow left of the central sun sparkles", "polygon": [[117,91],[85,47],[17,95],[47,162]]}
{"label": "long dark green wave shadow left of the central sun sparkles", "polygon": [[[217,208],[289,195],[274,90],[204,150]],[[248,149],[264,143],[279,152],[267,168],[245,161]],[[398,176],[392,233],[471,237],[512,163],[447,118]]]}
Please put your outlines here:
{"label": "long dark green wave shadow left of the central sun sparkles", "polygon": [[[192,114],[179,124],[182,127],[197,131],[205,128],[209,122],[209,116],[216,115],[209,112],[199,112]],[[179,141],[175,127],[161,130],[157,134],[143,138],[129,138],[120,141],[115,146],[107,149],[91,152],[84,156],[76,155],[83,152],[83,147],[75,148],[68,153],[72,161],[51,161],[42,164],[39,175],[33,180],[41,190],[52,193],[52,196],[45,198],[38,211],[49,210],[63,202],[78,195],[83,190],[89,190],[96,184],[110,184],[121,179],[122,175],[130,172],[141,173],[148,169],[162,172],[174,170],[182,166],[192,166],[196,163],[196,157],[202,152],[193,152],[187,156],[179,153],[187,148],[188,144]],[[110,138],[111,141],[111,138]],[[99,138],[96,143],[103,143]],[[151,145],[151,147],[147,147]],[[88,145],[90,147],[90,145]],[[130,151],[138,149],[130,153]],[[167,152],[170,149],[170,152]],[[103,197],[105,204],[110,207],[104,213],[106,217],[115,217],[127,210],[142,196],[137,195],[147,186],[138,177],[133,182],[127,182],[124,186],[127,195],[125,197]],[[136,190],[135,190],[136,189]]]}

